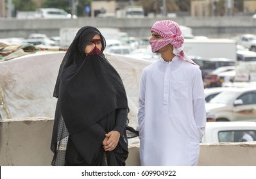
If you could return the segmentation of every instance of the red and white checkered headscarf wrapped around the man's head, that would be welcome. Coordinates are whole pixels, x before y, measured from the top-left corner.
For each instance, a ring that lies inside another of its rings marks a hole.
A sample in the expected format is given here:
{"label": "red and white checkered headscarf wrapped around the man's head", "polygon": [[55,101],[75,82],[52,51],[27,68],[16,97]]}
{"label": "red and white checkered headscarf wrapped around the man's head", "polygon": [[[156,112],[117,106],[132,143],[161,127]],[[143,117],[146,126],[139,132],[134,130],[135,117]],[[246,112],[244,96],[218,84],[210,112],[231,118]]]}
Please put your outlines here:
{"label": "red and white checkered headscarf wrapped around the man's head", "polygon": [[[162,49],[168,44],[173,45],[173,53],[182,58],[185,61],[189,61],[190,63],[196,65],[191,58],[189,58],[183,52],[183,42],[184,38],[182,36],[182,31],[180,30],[180,26],[172,20],[160,20],[155,22],[155,24],[151,28],[151,32],[154,31],[158,33],[158,35],[163,38],[159,40],[151,40],[149,41],[151,45],[152,52],[156,52],[159,49]],[[198,66],[198,65],[196,65]]]}

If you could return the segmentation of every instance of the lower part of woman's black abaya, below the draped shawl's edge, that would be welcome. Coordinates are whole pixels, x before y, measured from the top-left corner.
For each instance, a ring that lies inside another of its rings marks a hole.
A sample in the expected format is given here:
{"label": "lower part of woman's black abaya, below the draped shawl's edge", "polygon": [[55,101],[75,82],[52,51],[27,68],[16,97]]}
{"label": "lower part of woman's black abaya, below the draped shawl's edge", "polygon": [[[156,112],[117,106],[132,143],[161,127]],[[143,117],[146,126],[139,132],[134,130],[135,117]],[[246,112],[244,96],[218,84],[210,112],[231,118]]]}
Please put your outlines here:
{"label": "lower part of woman's black abaya, below the draped shawl's edge", "polygon": [[[69,136],[65,166],[125,166],[128,157],[125,123],[126,109],[115,110],[89,130]],[[102,141],[111,130],[121,130],[123,136],[112,152],[103,150]]]}

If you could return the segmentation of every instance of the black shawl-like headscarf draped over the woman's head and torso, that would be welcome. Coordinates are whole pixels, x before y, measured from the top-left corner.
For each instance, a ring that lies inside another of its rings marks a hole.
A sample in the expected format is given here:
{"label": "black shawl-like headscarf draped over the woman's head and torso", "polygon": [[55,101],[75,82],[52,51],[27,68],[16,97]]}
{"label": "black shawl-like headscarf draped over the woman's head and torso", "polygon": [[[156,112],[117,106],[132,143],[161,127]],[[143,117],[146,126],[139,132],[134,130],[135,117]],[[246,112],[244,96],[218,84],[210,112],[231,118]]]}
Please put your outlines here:
{"label": "black shawl-like headscarf draped over the woman's head and torso", "polygon": [[105,38],[95,27],[85,26],[76,34],[60,65],[53,94],[58,98],[51,143],[54,153],[60,147],[58,141],[90,127],[115,109],[128,108],[121,77],[104,54],[84,53],[96,34],[101,36],[103,51]]}

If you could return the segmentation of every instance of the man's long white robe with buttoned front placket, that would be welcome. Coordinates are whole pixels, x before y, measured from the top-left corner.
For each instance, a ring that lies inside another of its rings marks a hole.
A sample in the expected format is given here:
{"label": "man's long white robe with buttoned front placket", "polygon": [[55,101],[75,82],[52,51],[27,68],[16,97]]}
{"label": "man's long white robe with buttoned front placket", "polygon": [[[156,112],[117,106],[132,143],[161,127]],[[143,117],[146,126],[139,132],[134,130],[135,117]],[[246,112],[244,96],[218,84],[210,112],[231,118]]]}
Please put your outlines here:
{"label": "man's long white robe with buttoned front placket", "polygon": [[144,68],[138,118],[142,166],[196,166],[206,121],[200,69],[177,56]]}

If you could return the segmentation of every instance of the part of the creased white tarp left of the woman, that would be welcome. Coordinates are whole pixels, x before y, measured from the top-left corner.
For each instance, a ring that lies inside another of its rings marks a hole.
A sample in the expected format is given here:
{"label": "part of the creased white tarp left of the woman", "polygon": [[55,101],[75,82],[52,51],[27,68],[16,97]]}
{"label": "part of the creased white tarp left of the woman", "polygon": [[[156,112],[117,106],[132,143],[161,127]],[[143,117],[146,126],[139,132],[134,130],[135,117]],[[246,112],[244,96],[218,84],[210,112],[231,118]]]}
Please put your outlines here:
{"label": "part of the creased white tarp left of the woman", "polygon": [[64,54],[36,52],[0,62],[2,118],[54,117],[53,89]]}

